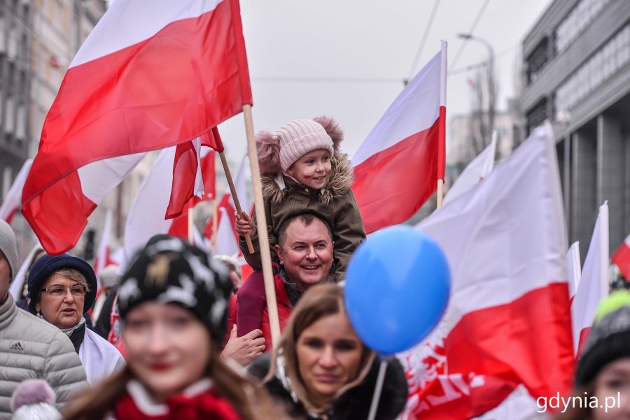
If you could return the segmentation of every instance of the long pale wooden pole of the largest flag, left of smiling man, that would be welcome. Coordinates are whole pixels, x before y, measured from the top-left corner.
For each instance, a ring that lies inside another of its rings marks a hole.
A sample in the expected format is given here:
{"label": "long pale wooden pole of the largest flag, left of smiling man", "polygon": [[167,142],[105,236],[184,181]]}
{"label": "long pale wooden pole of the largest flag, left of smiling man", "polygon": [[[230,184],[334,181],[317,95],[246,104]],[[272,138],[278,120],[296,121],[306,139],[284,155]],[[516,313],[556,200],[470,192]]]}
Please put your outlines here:
{"label": "long pale wooden pole of the largest flag, left of smiling man", "polygon": [[262,260],[262,276],[265,278],[265,295],[267,296],[267,312],[269,312],[269,326],[272,333],[272,345],[278,344],[280,339],[280,321],[276,305],[276,289],[271,266],[271,251],[269,250],[269,236],[267,236],[267,218],[265,204],[262,202],[262,184],[260,182],[260,167],[258,166],[258,152],[253,137],[253,119],[251,105],[243,106],[245,130],[247,133],[247,150],[251,167],[251,180],[254,190],[254,206],[256,210],[256,224],[258,224],[258,245],[260,245],[260,259]]}

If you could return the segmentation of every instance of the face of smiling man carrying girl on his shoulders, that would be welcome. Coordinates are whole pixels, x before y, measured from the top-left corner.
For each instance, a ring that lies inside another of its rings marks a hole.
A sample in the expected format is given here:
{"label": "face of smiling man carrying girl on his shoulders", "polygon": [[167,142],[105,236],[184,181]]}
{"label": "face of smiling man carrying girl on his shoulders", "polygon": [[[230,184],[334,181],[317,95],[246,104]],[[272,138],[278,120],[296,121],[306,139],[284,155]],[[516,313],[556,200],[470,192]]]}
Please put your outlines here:
{"label": "face of smiling man carrying girl on his shoulders", "polygon": [[288,280],[306,290],[326,280],[332,267],[332,239],[325,224],[313,219],[309,226],[294,219],[286,229],[284,243],[276,245],[280,263]]}

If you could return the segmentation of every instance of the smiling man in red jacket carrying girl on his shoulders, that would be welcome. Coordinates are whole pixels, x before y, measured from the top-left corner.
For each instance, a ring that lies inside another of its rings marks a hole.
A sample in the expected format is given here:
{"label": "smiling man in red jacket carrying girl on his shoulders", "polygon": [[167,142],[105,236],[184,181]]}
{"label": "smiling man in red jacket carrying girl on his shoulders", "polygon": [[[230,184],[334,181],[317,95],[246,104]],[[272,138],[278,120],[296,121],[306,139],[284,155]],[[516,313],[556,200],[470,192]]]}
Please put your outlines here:
{"label": "smiling man in red jacket carrying girl on his shoulders", "polygon": [[[280,266],[274,273],[274,286],[281,331],[304,291],[314,284],[335,281],[331,274],[333,246],[330,227],[315,215],[297,215],[280,226],[278,245],[275,246]],[[262,312],[260,329],[265,338],[266,349],[272,349],[271,326],[266,306]]]}

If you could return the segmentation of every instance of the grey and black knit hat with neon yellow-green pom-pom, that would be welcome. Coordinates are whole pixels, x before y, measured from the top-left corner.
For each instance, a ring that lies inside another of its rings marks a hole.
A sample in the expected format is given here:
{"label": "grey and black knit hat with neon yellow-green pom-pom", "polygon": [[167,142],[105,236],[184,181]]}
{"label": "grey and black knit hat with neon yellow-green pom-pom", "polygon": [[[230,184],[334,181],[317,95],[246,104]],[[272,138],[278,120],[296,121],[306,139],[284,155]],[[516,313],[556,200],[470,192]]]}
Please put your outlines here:
{"label": "grey and black knit hat with neon yellow-green pom-pom", "polygon": [[586,386],[608,363],[630,357],[630,292],[615,291],[597,312],[575,371],[575,385]]}

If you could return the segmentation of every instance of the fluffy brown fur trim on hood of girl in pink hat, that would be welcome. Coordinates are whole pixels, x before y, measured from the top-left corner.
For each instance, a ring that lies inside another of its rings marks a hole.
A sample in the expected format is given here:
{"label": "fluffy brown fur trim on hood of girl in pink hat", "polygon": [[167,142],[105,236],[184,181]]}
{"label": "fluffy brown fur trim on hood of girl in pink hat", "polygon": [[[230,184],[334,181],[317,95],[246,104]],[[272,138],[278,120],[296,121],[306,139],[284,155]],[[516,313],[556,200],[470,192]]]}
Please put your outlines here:
{"label": "fluffy brown fur trim on hood of girl in pink hat", "polygon": [[[319,201],[323,205],[329,205],[335,198],[342,196],[352,187],[353,170],[348,159],[348,155],[342,152],[335,152],[330,159],[330,178],[325,186],[319,191]],[[274,175],[261,175],[262,180],[262,197],[265,201],[272,203],[281,203],[287,194],[291,194],[298,184],[290,178],[284,177],[286,188],[282,189],[276,182]]]}

